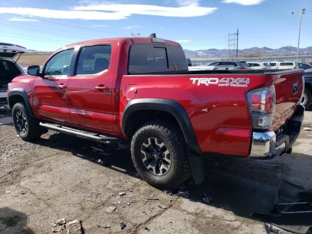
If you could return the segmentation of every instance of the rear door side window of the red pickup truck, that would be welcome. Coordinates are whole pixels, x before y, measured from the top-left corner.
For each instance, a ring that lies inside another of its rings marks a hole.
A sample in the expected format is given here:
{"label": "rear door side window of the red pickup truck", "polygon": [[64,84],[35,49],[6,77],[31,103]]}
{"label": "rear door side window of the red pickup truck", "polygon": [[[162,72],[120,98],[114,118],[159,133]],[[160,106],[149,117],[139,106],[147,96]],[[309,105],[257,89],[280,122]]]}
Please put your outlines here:
{"label": "rear door side window of the red pickup truck", "polygon": [[82,47],[77,63],[76,75],[94,75],[105,71],[111,60],[111,45]]}

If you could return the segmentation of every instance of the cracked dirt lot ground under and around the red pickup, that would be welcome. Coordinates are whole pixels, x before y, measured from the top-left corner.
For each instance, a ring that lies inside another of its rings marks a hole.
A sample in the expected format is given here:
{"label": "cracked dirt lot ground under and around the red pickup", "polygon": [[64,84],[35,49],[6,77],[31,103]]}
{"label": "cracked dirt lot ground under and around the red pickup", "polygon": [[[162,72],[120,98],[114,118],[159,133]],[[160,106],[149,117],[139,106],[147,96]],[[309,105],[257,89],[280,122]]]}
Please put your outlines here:
{"label": "cracked dirt lot ground under and around the red pickup", "polygon": [[[312,111],[305,126],[312,127]],[[0,234],[52,233],[59,218],[81,220],[86,234],[263,234],[263,223],[250,214],[270,210],[280,179],[312,187],[312,132],[301,132],[291,155],[272,160],[207,157],[205,181],[182,188],[189,198],[142,182],[127,145],[103,156],[91,148],[96,143],[53,131],[29,143],[10,124],[0,126],[0,137]],[[212,198],[208,205],[203,192]],[[116,210],[106,213],[112,205]]]}

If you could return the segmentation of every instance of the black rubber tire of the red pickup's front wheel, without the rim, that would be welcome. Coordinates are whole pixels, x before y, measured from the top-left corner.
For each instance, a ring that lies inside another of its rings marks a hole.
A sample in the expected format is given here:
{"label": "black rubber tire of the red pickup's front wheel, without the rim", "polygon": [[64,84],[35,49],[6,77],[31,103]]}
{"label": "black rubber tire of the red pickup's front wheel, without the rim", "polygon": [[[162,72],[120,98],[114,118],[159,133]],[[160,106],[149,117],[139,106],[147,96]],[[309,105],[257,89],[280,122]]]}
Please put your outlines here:
{"label": "black rubber tire of the red pickup's front wheel, without the rim", "polygon": [[[22,113],[27,121],[27,130],[24,132],[20,131],[20,127],[18,126],[18,121],[20,115],[19,113]],[[17,116],[18,115],[18,116]],[[29,111],[27,110],[25,104],[23,102],[17,102],[12,109],[12,117],[13,117],[13,123],[15,126],[15,129],[20,136],[25,141],[33,141],[37,140],[41,137],[42,129],[39,126],[39,120],[35,117],[32,117],[29,114]]]}

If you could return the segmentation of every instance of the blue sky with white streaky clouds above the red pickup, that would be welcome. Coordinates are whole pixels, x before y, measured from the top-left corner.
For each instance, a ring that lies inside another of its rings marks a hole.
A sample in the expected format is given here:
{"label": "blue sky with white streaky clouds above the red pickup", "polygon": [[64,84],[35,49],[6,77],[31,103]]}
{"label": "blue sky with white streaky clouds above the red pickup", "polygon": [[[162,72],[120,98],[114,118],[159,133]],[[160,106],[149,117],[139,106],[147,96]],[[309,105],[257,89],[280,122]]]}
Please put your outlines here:
{"label": "blue sky with white streaky clouds above the red pickup", "polygon": [[[299,14],[312,0],[1,0],[0,41],[53,51],[86,39],[131,33],[225,49],[239,29],[239,49],[297,46]],[[300,48],[312,46],[312,12],[302,18]]]}

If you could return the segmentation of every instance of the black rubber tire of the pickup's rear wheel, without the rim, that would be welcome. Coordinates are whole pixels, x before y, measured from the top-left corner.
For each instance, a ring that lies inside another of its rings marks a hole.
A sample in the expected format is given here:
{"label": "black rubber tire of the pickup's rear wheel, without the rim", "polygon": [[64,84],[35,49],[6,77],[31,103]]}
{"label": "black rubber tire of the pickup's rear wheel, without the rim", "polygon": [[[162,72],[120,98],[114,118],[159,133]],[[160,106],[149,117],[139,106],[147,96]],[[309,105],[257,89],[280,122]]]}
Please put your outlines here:
{"label": "black rubber tire of the pickup's rear wheel, without the rim", "polygon": [[[141,147],[149,137],[160,139],[170,152],[171,165],[164,175],[154,175],[142,161]],[[176,188],[190,175],[185,139],[180,128],[169,121],[151,121],[139,127],[131,140],[131,156],[139,176],[156,188]]]}

